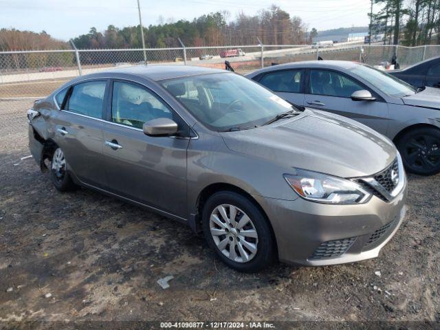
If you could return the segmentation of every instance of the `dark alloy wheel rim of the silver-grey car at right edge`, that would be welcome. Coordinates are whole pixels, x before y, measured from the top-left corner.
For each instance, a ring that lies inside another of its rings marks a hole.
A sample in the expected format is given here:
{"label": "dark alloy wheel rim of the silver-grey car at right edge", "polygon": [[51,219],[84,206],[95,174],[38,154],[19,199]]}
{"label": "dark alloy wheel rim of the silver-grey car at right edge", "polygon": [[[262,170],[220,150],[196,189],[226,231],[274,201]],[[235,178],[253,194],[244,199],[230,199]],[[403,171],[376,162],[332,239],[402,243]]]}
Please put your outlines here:
{"label": "dark alloy wheel rim of the silver-grey car at right edge", "polygon": [[404,146],[404,157],[413,168],[437,168],[440,164],[440,140],[430,135],[412,137]]}

